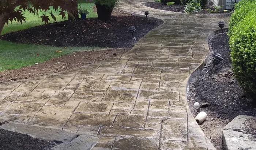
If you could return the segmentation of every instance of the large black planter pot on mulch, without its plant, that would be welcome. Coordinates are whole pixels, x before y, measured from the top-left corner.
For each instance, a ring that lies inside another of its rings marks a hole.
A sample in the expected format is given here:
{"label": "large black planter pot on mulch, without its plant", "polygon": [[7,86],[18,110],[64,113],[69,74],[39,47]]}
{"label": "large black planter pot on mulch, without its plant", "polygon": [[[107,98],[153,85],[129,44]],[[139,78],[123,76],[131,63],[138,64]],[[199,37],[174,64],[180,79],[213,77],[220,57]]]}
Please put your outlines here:
{"label": "large black planter pot on mulch, without its plant", "polygon": [[102,21],[108,21],[111,19],[113,9],[107,9],[104,5],[95,3],[98,13],[98,19]]}

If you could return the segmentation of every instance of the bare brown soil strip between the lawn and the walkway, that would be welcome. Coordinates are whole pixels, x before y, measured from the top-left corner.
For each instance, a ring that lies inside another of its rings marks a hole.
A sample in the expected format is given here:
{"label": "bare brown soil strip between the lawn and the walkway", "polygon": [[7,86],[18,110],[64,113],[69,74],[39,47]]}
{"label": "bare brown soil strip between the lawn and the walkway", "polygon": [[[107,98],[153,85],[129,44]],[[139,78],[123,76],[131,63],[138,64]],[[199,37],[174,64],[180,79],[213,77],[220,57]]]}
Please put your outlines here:
{"label": "bare brown soil strip between the lawn and the walkway", "polygon": [[82,67],[87,64],[101,62],[102,60],[120,56],[129,50],[130,48],[114,48],[109,50],[74,52],[70,55],[53,58],[44,63],[35,64],[33,66],[0,72],[0,83],[8,82],[10,80],[28,79]]}

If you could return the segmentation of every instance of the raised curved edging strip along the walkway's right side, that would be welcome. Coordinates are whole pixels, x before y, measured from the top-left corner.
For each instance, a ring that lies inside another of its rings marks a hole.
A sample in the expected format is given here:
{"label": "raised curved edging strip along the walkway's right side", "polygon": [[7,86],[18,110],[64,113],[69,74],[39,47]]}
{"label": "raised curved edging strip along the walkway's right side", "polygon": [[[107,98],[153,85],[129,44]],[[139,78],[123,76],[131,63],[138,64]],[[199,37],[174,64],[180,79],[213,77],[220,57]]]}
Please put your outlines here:
{"label": "raised curved edging strip along the walkway's right side", "polygon": [[[224,33],[228,31],[228,28],[224,28],[223,29]],[[212,36],[221,33],[221,29],[215,30],[214,32],[210,33],[210,35],[208,35],[207,37],[207,43],[209,43],[209,40],[211,39]],[[187,93],[188,93],[188,86],[189,83],[191,82],[191,80],[194,78],[195,75],[198,74],[199,71],[201,71],[204,67],[204,65],[208,62],[208,60],[210,59],[210,53],[207,54],[206,59],[204,60],[203,63],[201,63],[190,75],[187,81],[187,85],[186,85],[186,98],[187,98]]]}

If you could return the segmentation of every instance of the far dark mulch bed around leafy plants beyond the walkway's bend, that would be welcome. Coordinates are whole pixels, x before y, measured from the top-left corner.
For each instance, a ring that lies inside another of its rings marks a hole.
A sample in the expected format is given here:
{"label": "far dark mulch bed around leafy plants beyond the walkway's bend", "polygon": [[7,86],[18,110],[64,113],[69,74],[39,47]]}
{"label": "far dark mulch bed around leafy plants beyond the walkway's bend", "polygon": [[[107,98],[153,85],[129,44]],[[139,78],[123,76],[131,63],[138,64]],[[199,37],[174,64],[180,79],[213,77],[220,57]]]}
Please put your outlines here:
{"label": "far dark mulch bed around leafy plants beyond the walkway's bend", "polygon": [[[147,2],[147,3],[142,3],[143,5],[150,7],[150,8],[155,8],[155,9],[161,9],[161,10],[165,10],[165,11],[174,11],[174,12],[178,12],[177,11],[177,7],[181,7],[181,11],[182,13],[184,13],[184,7],[185,5],[164,5],[158,1],[155,2]],[[208,1],[208,3],[206,4],[206,6],[204,6],[203,10],[201,12],[195,12],[195,14],[200,14],[200,15],[214,15],[214,16],[230,16],[231,13],[230,12],[223,12],[223,11],[219,11],[219,13],[215,13],[212,12],[210,13],[207,9],[211,9],[211,10],[215,10],[215,8],[213,8],[213,3],[212,1]]]}

